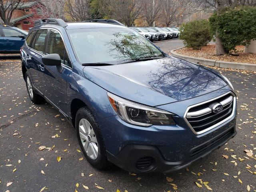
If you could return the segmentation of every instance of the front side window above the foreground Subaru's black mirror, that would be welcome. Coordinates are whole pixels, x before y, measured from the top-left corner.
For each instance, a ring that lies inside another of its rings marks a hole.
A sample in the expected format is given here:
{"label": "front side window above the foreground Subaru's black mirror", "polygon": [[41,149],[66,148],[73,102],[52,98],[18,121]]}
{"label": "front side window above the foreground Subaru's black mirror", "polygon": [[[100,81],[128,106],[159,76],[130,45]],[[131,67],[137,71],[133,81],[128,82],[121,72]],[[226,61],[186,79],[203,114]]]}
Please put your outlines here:
{"label": "front side window above the foreground Subaru's black mirror", "polygon": [[65,49],[64,42],[59,34],[59,32],[55,30],[50,30],[50,34],[48,37],[48,42],[46,46],[46,54],[59,54],[61,62],[66,66],[71,67],[70,60],[68,58],[68,54]]}

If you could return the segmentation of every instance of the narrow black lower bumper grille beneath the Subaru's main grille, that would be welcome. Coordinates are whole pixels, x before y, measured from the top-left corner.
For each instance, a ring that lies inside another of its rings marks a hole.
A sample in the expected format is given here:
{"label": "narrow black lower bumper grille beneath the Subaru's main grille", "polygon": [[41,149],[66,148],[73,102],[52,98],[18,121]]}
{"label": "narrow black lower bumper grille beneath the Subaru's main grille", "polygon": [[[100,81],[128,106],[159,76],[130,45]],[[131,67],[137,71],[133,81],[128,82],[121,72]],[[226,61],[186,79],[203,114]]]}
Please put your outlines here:
{"label": "narrow black lower bumper grille beneath the Subaru's main grille", "polygon": [[200,146],[197,146],[195,148],[193,148],[191,150],[191,155],[190,157],[194,157],[196,155],[201,154],[202,152],[209,150],[210,148],[215,148],[218,146],[218,144],[222,143],[222,142],[226,142],[226,140],[228,140],[229,138],[231,138],[234,134],[234,128],[228,130],[226,133],[224,133],[223,135],[221,135],[220,137],[207,142],[206,144],[202,144]]}

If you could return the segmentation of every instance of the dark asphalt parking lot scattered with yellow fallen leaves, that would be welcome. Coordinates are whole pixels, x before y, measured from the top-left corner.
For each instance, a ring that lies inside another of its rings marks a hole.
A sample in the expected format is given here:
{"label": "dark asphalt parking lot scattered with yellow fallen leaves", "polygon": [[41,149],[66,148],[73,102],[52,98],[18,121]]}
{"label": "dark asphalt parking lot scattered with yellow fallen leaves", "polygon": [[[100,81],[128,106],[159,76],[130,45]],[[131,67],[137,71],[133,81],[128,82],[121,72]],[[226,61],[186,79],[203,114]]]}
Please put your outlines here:
{"label": "dark asphalt parking lot scattered with yellow fallen leaves", "polygon": [[[168,52],[182,46],[182,41],[155,44]],[[104,171],[93,168],[78,152],[75,130],[64,116],[49,104],[30,101],[20,60],[0,59],[0,191],[256,191],[256,72],[215,70],[230,79],[238,97],[236,137],[176,173],[136,175],[116,166]],[[46,149],[38,150],[40,146]],[[251,150],[253,158],[244,150]],[[201,181],[208,182],[210,189]]]}

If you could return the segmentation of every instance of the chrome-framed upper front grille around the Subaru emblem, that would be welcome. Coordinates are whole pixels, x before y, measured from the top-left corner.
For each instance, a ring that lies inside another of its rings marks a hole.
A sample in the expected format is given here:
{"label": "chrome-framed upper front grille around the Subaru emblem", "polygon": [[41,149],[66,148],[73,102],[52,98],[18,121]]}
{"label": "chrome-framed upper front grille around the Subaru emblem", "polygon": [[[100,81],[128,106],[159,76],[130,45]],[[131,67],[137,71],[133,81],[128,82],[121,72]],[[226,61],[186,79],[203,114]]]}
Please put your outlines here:
{"label": "chrome-framed upper front grille around the Subaru emblem", "polygon": [[[203,102],[189,108],[186,114],[186,120],[197,134],[201,134],[204,130],[218,126],[218,123],[228,119],[233,114],[234,94],[229,92],[223,96]],[[223,110],[214,112],[214,106],[221,104]]]}

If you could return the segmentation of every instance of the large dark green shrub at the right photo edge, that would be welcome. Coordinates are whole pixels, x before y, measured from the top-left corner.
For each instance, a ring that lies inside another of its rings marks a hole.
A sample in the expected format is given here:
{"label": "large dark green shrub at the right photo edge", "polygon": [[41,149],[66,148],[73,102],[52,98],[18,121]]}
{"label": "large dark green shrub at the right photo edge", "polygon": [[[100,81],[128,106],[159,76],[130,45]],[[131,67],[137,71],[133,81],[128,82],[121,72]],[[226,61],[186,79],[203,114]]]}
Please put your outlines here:
{"label": "large dark green shrub at the right photo edge", "polygon": [[212,34],[216,35],[218,29],[218,37],[227,54],[236,51],[237,45],[247,45],[256,39],[255,7],[225,8],[219,16],[213,14],[209,21]]}

